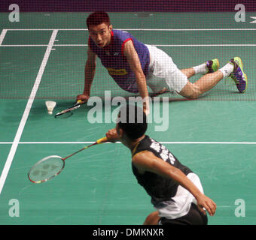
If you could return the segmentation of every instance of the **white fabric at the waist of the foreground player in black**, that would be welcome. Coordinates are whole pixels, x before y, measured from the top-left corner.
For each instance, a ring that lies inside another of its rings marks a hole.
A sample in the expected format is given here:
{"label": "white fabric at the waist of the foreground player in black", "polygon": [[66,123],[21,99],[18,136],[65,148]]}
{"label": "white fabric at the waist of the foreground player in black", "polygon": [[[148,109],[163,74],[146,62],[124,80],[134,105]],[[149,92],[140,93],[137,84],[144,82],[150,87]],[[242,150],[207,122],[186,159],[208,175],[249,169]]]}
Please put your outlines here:
{"label": "white fabric at the waist of the foreground player in black", "polygon": [[[187,178],[189,178],[203,193],[203,187],[197,174],[190,172],[187,174]],[[173,201],[169,202],[169,205],[166,205],[163,208],[157,208],[160,217],[166,217],[168,219],[183,217],[190,210],[192,202],[197,204],[197,199],[195,199],[188,190],[181,186],[178,186],[177,193],[172,197],[172,200]]]}

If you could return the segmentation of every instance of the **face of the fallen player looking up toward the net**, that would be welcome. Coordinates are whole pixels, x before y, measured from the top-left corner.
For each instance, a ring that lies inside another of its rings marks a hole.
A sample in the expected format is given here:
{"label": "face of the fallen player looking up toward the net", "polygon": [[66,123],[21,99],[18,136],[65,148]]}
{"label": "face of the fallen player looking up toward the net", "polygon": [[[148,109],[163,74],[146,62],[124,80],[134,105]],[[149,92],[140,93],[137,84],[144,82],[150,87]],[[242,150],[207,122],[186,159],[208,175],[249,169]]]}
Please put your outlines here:
{"label": "face of the fallen player looking up toward the net", "polygon": [[93,42],[96,43],[96,45],[100,48],[108,46],[108,44],[111,42],[111,25],[108,26],[107,24],[102,23],[96,26],[90,26],[88,30]]}

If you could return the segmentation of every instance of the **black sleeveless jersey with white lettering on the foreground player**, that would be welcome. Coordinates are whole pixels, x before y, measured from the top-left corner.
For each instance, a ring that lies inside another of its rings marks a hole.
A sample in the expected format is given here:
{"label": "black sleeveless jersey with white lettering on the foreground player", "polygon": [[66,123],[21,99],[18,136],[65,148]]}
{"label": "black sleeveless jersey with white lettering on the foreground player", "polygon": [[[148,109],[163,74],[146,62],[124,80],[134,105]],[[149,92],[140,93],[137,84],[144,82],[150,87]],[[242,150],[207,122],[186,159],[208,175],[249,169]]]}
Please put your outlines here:
{"label": "black sleeveless jersey with white lettering on the foreground player", "polygon": [[[185,175],[192,172],[187,166],[182,165],[164,145],[154,139],[151,139],[147,135],[133,149],[133,156],[141,151],[151,151],[156,157],[159,157],[166,161],[166,163],[180,169]],[[136,175],[138,183],[141,184],[149,196],[151,196],[151,202],[155,207],[159,208],[168,204],[169,201],[172,201],[171,198],[175,196],[179,186],[177,181],[172,178],[164,178],[154,172],[146,171],[143,174],[140,174],[133,163],[132,167],[133,174]]]}

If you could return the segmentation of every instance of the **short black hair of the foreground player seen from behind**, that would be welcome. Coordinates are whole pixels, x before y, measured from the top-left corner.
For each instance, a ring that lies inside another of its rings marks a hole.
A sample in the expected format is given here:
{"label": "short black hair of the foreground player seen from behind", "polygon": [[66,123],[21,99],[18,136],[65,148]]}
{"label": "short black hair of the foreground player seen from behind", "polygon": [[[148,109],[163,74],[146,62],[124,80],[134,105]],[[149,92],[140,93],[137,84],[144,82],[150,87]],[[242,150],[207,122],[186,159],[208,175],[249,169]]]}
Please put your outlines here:
{"label": "short black hair of the foreground player seen from behind", "polygon": [[135,140],[145,134],[148,127],[147,116],[141,107],[124,105],[120,107],[118,115],[117,124],[130,139]]}

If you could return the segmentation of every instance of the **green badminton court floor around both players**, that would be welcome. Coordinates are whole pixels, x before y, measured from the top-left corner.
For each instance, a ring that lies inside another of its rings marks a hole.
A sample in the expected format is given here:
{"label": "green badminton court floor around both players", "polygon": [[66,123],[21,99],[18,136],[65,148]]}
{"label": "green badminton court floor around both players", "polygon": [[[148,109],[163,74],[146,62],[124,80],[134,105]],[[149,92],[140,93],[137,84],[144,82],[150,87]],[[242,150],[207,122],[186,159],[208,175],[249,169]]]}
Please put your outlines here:
{"label": "green badminton court floor around both players", "polygon": [[[27,177],[41,158],[65,157],[105,136],[115,125],[114,119],[104,121],[116,110],[114,106],[105,107],[102,122],[94,123],[88,117],[90,106],[83,105],[61,119],[48,115],[45,107],[48,100],[56,101],[54,113],[70,107],[84,88],[87,16],[21,13],[20,23],[10,23],[8,13],[0,13],[2,225],[139,225],[154,211],[150,197],[133,176],[130,151],[118,142],[75,155],[51,181],[33,184]],[[181,101],[177,96],[162,101],[156,105],[160,121],[149,124],[147,133],[200,176],[206,196],[217,204],[209,224],[255,224],[254,25],[236,23],[233,13],[151,13],[147,17],[110,13],[110,17],[114,28],[163,49],[178,68],[212,58],[221,65],[233,56],[242,58],[248,75],[245,94],[223,80],[196,101]],[[113,82],[98,62],[94,95],[108,87],[125,95]],[[161,124],[166,129],[156,130]]]}

